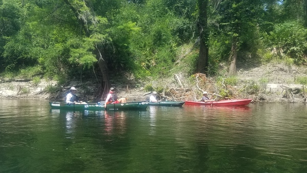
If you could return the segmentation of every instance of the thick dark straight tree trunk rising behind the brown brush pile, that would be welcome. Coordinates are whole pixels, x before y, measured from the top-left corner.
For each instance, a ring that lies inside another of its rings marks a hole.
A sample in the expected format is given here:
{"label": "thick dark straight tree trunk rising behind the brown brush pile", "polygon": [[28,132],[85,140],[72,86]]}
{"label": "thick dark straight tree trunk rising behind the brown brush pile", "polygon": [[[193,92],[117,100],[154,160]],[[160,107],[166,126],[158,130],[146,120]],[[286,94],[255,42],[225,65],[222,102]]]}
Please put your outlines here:
{"label": "thick dark straight tree trunk rising behind the brown brush pile", "polygon": [[208,73],[208,41],[209,30],[207,26],[207,6],[208,0],[198,0],[199,3],[199,22],[197,24],[200,34],[200,53],[195,73]]}

